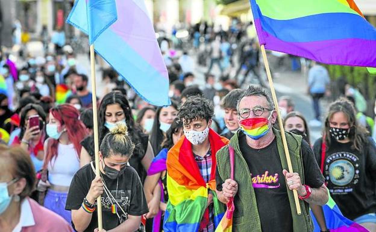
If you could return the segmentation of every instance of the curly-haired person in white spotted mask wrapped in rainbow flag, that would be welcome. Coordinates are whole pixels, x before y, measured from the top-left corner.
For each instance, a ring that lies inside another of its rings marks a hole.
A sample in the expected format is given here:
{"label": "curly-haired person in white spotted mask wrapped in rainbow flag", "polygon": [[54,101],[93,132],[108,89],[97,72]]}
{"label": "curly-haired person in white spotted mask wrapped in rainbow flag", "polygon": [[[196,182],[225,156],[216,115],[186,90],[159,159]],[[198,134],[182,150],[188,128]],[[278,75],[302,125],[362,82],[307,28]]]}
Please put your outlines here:
{"label": "curly-haired person in white spotted mask wrapped in rainbow flag", "polygon": [[[210,128],[213,114],[212,103],[201,96],[188,97],[177,114],[184,136],[167,154],[165,232],[214,232],[218,226],[214,218],[224,207],[215,193],[215,160],[229,140]],[[194,223],[182,223],[188,220]]]}

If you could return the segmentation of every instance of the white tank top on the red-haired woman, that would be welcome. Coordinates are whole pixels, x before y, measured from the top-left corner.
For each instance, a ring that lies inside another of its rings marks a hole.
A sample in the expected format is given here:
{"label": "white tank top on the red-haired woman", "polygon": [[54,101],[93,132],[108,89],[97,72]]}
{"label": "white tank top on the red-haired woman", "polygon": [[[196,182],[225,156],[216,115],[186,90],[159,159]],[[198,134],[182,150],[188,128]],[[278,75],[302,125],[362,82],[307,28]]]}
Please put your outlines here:
{"label": "white tank top on the red-haired woman", "polygon": [[73,144],[58,144],[58,155],[49,162],[48,179],[53,185],[70,186],[74,174],[80,169],[80,161]]}

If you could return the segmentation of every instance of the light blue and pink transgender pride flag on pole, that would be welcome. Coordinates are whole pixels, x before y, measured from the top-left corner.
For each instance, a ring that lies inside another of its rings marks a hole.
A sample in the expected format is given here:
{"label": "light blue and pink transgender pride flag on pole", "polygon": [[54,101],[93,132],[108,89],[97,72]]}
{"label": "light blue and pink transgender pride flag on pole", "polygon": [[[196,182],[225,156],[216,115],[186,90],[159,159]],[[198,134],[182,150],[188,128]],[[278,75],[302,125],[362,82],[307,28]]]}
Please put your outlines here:
{"label": "light blue and pink transgender pride flag on pole", "polygon": [[144,0],[76,0],[67,22],[147,102],[170,105],[168,73]]}

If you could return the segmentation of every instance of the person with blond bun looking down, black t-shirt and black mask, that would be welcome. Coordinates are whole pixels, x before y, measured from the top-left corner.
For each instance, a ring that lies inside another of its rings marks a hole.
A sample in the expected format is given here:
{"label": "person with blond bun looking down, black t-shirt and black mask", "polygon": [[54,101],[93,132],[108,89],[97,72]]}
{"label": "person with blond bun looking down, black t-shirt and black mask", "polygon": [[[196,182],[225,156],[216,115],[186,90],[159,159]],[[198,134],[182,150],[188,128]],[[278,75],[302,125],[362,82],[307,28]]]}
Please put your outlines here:
{"label": "person with blond bun looking down, black t-shirt and black mask", "polygon": [[129,165],[135,144],[125,123],[118,122],[100,144],[99,169],[91,161],[74,175],[65,208],[72,212],[77,231],[98,231],[97,197],[102,197],[103,229],[133,232],[140,228],[141,215],[148,212],[143,186]]}

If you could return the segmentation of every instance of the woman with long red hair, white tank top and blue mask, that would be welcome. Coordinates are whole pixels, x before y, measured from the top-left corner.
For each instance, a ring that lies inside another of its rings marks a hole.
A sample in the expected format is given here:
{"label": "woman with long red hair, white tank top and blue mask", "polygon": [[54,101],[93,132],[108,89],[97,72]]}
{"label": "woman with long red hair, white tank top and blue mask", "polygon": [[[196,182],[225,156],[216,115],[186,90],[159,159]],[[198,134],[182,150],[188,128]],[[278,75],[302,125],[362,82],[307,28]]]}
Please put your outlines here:
{"label": "woman with long red hair, white tank top and blue mask", "polygon": [[50,109],[44,143],[43,171],[48,171],[47,180],[38,182],[37,190],[45,194],[43,205],[71,223],[71,213],[65,210],[69,186],[74,174],[80,169],[80,141],[87,130],[79,119],[80,112],[70,104]]}

